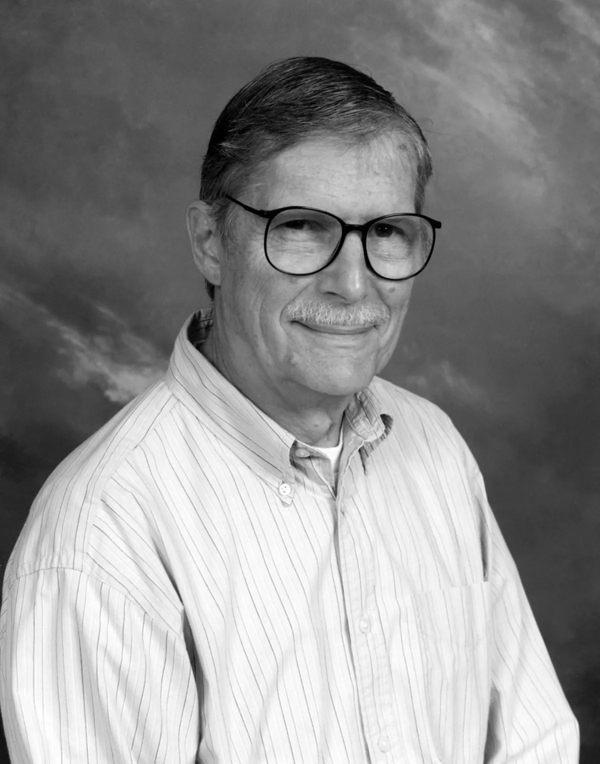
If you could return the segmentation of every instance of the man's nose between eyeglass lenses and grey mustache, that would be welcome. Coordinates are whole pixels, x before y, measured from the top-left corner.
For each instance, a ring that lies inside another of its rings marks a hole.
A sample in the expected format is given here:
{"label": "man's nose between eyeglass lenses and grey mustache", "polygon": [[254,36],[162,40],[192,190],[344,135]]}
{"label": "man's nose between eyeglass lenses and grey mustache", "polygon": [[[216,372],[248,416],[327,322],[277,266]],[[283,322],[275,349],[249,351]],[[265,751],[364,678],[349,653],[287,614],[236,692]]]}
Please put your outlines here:
{"label": "man's nose between eyeglass lenses and grey mustache", "polygon": [[336,259],[319,274],[323,293],[358,303],[371,291],[371,273],[365,262],[360,231],[349,231]]}

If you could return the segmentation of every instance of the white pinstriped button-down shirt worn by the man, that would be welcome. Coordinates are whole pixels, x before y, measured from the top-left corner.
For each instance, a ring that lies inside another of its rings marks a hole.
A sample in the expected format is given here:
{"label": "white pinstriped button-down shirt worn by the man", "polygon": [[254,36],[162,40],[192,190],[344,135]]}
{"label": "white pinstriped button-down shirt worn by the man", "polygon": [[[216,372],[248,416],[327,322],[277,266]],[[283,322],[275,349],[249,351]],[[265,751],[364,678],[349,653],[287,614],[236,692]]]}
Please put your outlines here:
{"label": "white pinstriped button-down shirt worn by the man", "polygon": [[336,490],[194,347],[207,321],[19,536],[0,612],[13,764],[576,764],[446,415],[376,377],[345,411]]}

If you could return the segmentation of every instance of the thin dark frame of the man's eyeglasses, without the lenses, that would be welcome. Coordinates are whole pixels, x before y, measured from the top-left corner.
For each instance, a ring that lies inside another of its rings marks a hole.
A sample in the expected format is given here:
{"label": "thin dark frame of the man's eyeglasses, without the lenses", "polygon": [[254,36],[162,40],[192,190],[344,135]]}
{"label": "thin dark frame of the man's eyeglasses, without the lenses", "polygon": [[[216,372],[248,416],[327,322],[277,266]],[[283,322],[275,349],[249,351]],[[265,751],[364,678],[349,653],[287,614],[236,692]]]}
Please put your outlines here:
{"label": "thin dark frame of the man's eyeglasses, without the lenses", "polygon": [[[288,276],[313,276],[313,274],[318,274],[319,271],[325,270],[326,267],[332,264],[332,262],[336,259],[336,257],[339,255],[340,251],[342,250],[342,247],[344,245],[344,241],[346,236],[350,233],[350,231],[360,231],[361,233],[361,241],[362,241],[362,253],[365,256],[365,263],[367,264],[368,270],[371,271],[371,274],[375,274],[379,279],[384,279],[386,281],[407,281],[409,279],[414,279],[415,276],[418,276],[420,273],[425,270],[426,264],[429,263],[431,259],[431,255],[433,254],[433,247],[436,244],[436,229],[442,228],[442,224],[439,222],[439,220],[434,220],[433,218],[428,218],[427,215],[420,215],[417,212],[396,212],[392,213],[391,215],[381,215],[379,218],[373,218],[372,220],[368,220],[366,223],[358,224],[358,223],[347,223],[341,218],[339,218],[337,215],[332,215],[331,212],[327,212],[325,209],[317,209],[316,207],[303,207],[298,205],[292,205],[289,207],[278,207],[277,209],[255,209],[254,207],[250,207],[247,204],[244,204],[243,202],[238,201],[238,199],[234,199],[233,196],[229,196],[229,194],[224,194],[226,199],[229,199],[232,202],[235,202],[235,204],[239,205],[243,209],[247,210],[248,212],[251,212],[253,215],[258,215],[260,218],[264,218],[267,221],[267,227],[264,229],[264,257],[267,258],[267,262],[271,267],[273,267],[275,270],[278,270],[281,274],[287,274]],[[289,270],[282,270],[281,268],[278,268],[276,265],[274,265],[271,260],[269,259],[269,254],[267,251],[267,237],[269,234],[269,226],[271,225],[271,222],[273,222],[274,218],[279,215],[280,212],[286,212],[288,209],[307,209],[310,212],[321,212],[323,215],[329,215],[330,218],[333,218],[339,222],[339,225],[342,226],[342,237],[339,240],[339,244],[337,245],[336,249],[333,251],[333,254],[331,257],[329,257],[329,260],[326,262],[325,265],[323,265],[320,268],[317,268],[316,270],[311,270],[308,274],[292,274]],[[410,274],[410,276],[404,276],[399,279],[391,279],[388,276],[381,276],[378,274],[378,272],[375,270],[375,268],[371,265],[371,261],[368,259],[368,253],[367,253],[367,234],[369,228],[371,228],[371,225],[374,225],[375,223],[378,223],[380,220],[385,220],[388,218],[400,218],[400,217],[411,217],[411,218],[423,218],[423,220],[426,220],[432,228],[432,238],[431,238],[431,249],[429,254],[427,255],[426,261],[423,263],[423,265],[420,267],[419,270],[417,270],[416,273]]]}

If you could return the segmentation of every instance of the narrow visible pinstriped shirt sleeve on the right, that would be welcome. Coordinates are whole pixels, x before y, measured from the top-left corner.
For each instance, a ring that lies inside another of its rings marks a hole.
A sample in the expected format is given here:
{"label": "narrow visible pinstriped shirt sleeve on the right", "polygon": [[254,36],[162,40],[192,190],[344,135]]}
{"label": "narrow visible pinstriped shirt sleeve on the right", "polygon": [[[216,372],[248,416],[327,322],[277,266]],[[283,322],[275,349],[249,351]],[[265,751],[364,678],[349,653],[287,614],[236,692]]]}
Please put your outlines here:
{"label": "narrow visible pinstriped shirt sleeve on the right", "polygon": [[485,764],[577,764],[579,727],[559,685],[517,567],[475,486],[488,522],[491,587],[491,704]]}

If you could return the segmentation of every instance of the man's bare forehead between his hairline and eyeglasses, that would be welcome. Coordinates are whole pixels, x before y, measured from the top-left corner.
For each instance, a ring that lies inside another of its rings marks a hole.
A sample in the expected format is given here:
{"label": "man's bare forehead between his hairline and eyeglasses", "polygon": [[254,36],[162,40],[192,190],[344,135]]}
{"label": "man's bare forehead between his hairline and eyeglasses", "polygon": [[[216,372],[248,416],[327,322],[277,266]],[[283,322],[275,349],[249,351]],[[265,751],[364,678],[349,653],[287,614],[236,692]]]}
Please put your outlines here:
{"label": "man's bare forehead between his hairline and eyeglasses", "polygon": [[261,209],[327,209],[352,222],[414,210],[415,163],[401,136],[368,141],[323,136],[262,163],[251,186]]}

